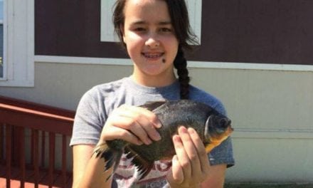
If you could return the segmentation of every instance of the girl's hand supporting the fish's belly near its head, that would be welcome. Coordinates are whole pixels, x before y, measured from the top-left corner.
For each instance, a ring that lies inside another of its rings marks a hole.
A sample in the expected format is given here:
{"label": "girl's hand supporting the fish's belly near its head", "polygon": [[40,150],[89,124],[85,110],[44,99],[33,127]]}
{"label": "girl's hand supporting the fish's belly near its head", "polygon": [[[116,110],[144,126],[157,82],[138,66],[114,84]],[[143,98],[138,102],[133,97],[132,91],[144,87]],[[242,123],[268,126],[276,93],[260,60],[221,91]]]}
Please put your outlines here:
{"label": "girl's hand supporting the fish's belly near its head", "polygon": [[193,128],[179,127],[178,133],[173,137],[176,155],[166,179],[171,187],[200,187],[210,169],[203,142]]}

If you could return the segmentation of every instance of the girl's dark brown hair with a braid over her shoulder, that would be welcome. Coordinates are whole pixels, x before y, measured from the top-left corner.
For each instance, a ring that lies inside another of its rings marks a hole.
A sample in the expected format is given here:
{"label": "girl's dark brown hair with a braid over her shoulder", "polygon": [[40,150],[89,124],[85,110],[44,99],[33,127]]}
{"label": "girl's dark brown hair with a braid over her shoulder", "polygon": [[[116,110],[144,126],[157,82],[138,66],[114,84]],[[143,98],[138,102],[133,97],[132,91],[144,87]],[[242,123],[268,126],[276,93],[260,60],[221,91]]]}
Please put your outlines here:
{"label": "girl's dark brown hair with a braid over her shoulder", "polygon": [[[124,26],[124,6],[127,0],[117,0],[115,3],[115,9],[113,12],[113,23],[115,26],[115,32],[119,36],[120,41],[126,48],[123,42],[122,27]],[[161,1],[161,0],[160,0]],[[191,31],[189,25],[189,15],[184,0],[162,0],[166,1],[169,9],[169,16],[171,17],[171,23],[174,27],[174,32],[177,40],[179,41],[179,49],[177,51],[176,58],[174,59],[174,67],[177,69],[177,75],[179,76],[181,99],[189,98],[189,72],[187,69],[187,61],[184,56],[184,50],[191,49],[191,44],[196,44],[196,36]]]}

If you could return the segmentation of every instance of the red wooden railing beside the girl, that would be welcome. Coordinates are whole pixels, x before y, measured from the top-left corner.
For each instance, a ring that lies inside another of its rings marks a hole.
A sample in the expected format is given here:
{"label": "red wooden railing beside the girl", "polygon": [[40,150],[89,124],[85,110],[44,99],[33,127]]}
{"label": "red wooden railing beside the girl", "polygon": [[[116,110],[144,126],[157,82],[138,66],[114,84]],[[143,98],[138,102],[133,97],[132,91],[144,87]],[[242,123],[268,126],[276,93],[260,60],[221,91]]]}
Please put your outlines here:
{"label": "red wooden railing beside the girl", "polygon": [[74,115],[0,96],[0,187],[71,187]]}

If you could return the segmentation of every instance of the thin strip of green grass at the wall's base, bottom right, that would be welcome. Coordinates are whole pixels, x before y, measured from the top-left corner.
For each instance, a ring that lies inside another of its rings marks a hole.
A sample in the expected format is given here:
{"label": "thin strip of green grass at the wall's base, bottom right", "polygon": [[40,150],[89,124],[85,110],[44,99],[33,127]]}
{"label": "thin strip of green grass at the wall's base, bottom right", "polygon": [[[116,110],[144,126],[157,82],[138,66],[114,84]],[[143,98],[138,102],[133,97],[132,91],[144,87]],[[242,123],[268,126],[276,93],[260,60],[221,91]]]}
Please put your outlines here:
{"label": "thin strip of green grass at the wall's base, bottom right", "polygon": [[226,184],[224,188],[313,188],[313,184]]}

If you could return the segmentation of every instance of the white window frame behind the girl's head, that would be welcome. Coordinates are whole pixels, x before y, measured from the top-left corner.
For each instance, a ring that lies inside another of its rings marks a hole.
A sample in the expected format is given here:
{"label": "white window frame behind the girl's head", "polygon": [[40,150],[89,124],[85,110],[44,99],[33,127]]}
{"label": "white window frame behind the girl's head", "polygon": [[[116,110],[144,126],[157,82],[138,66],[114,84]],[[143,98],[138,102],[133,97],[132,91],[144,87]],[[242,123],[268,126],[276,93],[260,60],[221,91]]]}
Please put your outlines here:
{"label": "white window frame behind the girl's head", "polygon": [[[114,26],[112,24],[112,7],[115,0],[101,0],[101,41],[118,41],[114,35]],[[198,37],[198,43],[201,43],[201,7],[202,0],[187,0],[189,10],[189,21],[193,32]]]}

